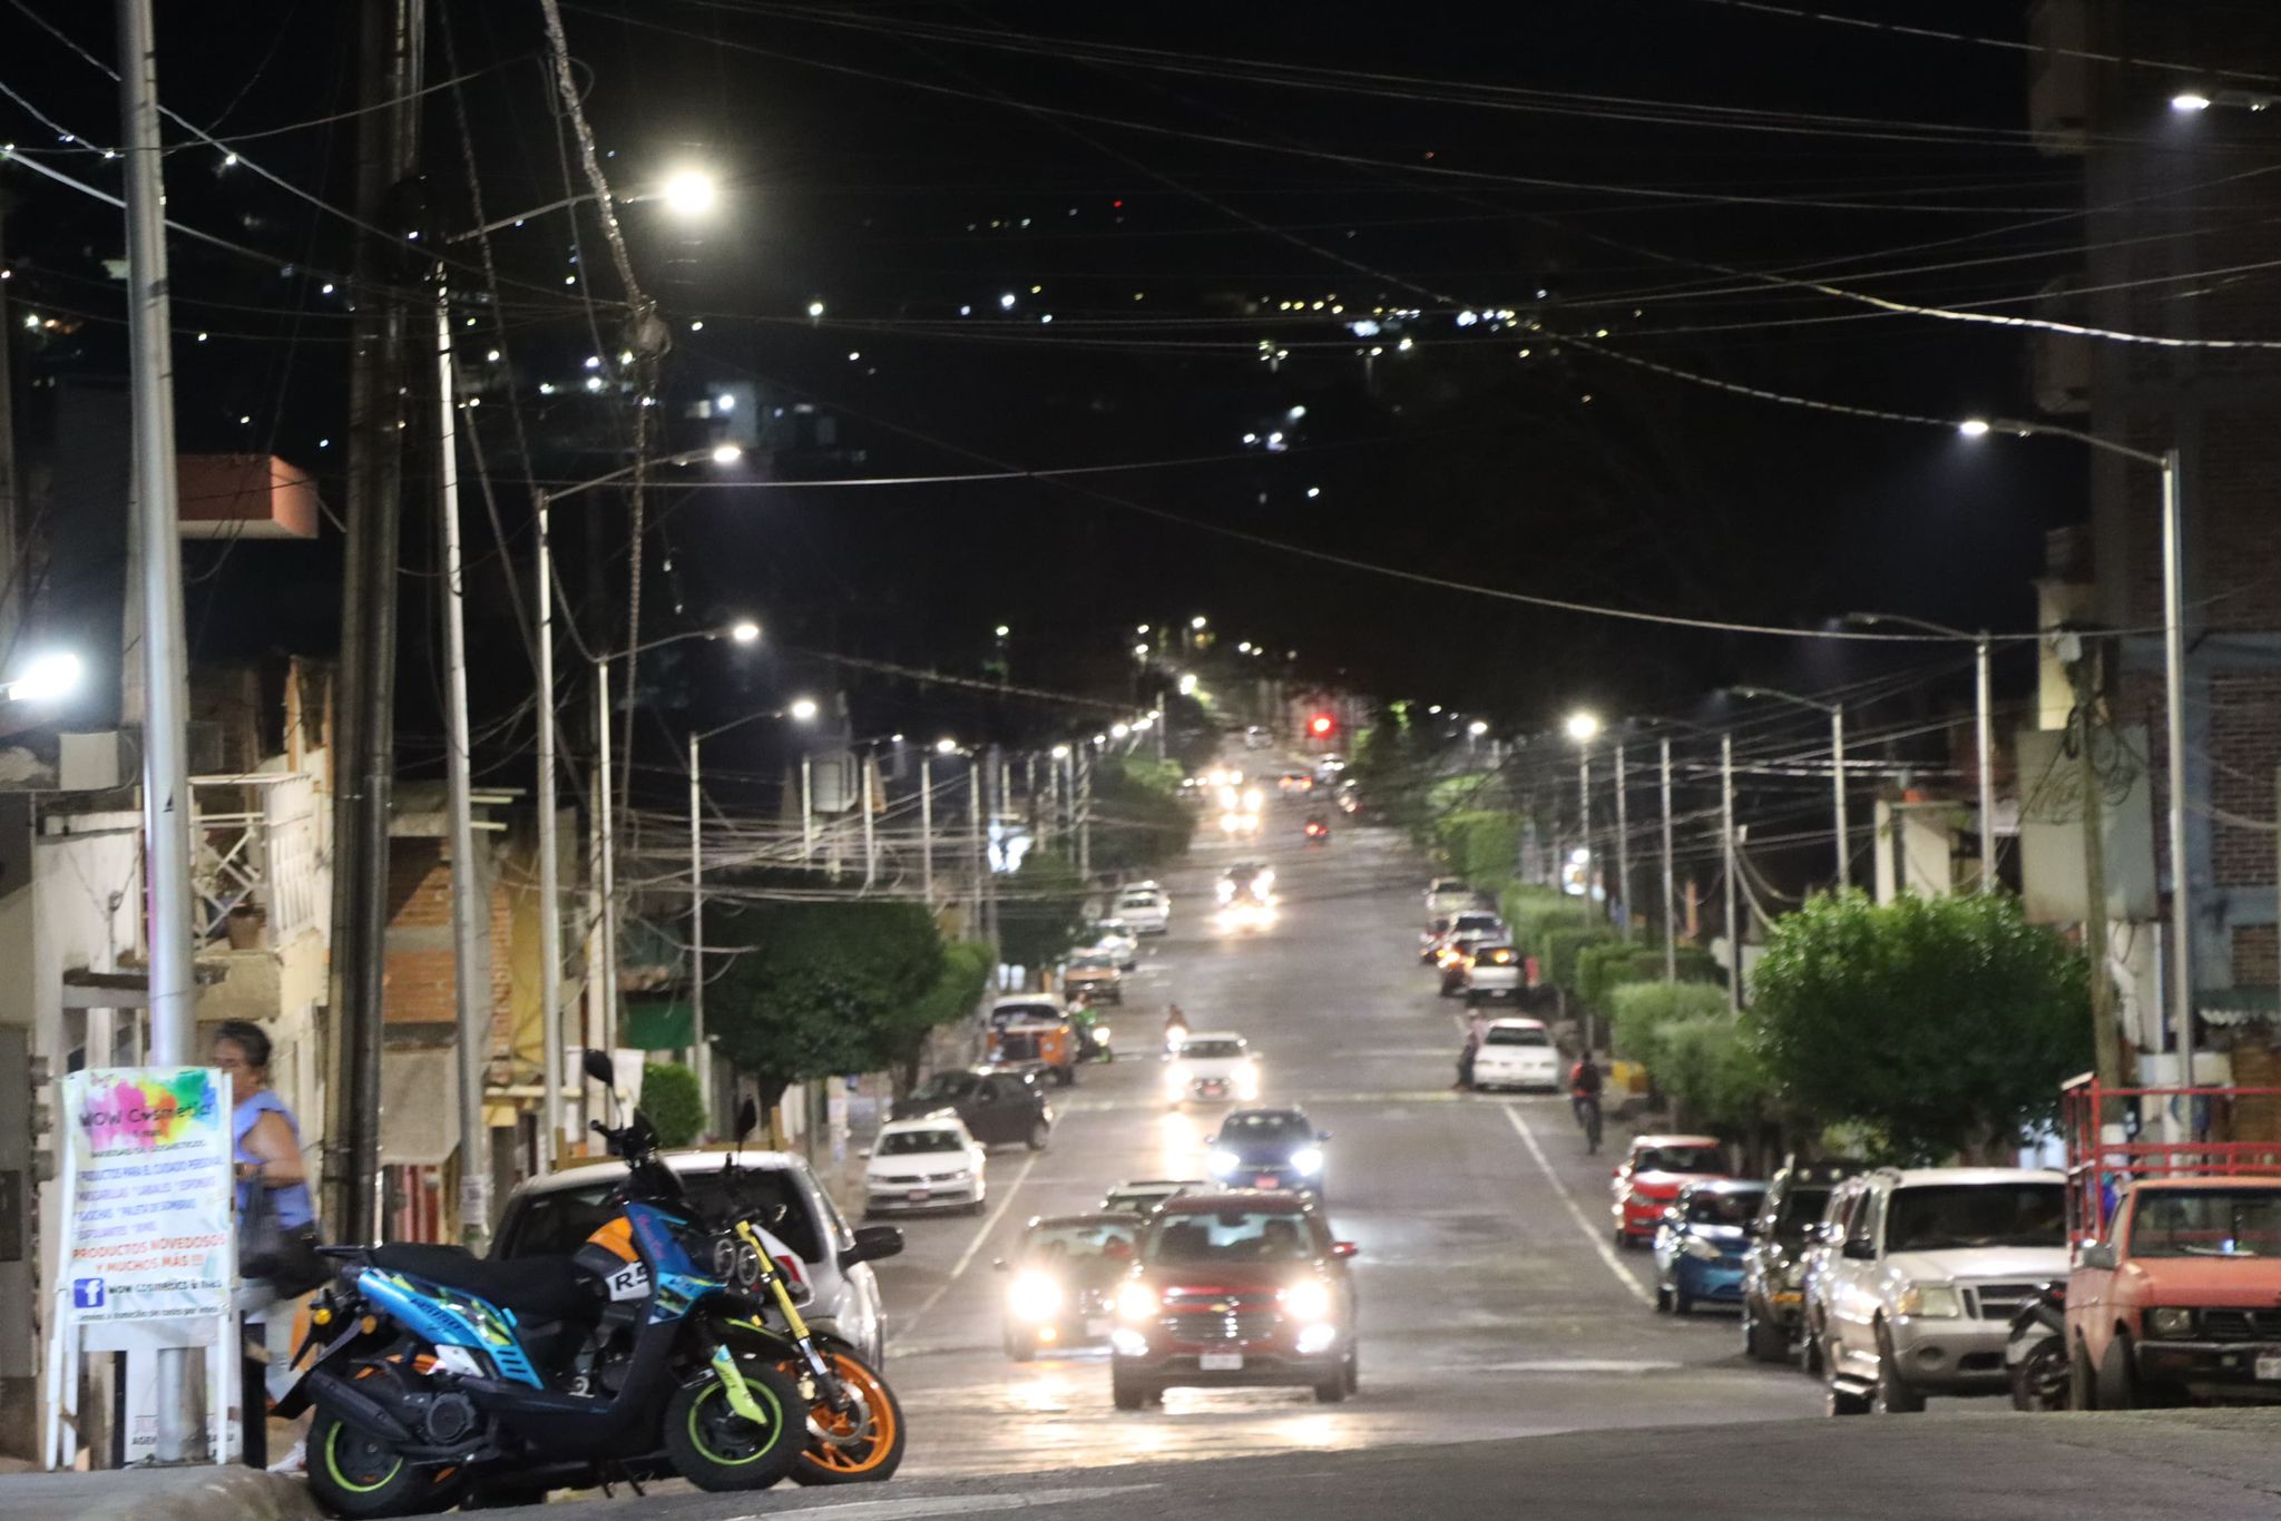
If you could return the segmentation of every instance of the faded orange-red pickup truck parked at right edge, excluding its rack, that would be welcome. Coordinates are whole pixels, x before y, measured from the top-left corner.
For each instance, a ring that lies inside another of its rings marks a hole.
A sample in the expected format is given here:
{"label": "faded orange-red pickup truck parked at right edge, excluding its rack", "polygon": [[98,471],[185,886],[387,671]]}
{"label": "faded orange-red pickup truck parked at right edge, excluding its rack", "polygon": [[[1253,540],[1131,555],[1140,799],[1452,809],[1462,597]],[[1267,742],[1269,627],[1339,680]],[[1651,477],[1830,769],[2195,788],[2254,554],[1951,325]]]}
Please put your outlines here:
{"label": "faded orange-red pickup truck parked at right edge, excluding its rack", "polygon": [[2078,1409],[2281,1400],[2281,1177],[2149,1177],[2067,1279]]}

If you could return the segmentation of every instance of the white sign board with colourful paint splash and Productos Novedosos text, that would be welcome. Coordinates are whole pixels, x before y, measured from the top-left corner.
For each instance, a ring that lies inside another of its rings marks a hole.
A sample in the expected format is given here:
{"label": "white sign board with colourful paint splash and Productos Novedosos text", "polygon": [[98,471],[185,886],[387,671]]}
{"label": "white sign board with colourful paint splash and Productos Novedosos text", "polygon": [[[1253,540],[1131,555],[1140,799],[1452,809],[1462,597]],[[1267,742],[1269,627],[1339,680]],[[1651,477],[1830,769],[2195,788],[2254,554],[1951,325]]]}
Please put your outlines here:
{"label": "white sign board with colourful paint splash and Productos Novedosos text", "polygon": [[228,1079],[96,1067],[64,1079],[62,1309],[80,1325],[224,1316],[237,1279]]}

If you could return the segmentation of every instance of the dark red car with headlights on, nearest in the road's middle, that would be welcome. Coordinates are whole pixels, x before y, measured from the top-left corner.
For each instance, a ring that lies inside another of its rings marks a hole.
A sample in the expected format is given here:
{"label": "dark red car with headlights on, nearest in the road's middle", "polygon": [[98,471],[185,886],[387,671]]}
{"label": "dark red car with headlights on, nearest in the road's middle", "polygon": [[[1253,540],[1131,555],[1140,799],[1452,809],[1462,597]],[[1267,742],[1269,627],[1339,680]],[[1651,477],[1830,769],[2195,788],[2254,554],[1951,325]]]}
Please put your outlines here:
{"label": "dark red car with headlights on, nearest in the road's middle", "polygon": [[1298,1384],[1337,1405],[1359,1382],[1353,1243],[1293,1193],[1184,1193],[1140,1229],[1118,1284],[1109,1389],[1140,1409],[1175,1386]]}

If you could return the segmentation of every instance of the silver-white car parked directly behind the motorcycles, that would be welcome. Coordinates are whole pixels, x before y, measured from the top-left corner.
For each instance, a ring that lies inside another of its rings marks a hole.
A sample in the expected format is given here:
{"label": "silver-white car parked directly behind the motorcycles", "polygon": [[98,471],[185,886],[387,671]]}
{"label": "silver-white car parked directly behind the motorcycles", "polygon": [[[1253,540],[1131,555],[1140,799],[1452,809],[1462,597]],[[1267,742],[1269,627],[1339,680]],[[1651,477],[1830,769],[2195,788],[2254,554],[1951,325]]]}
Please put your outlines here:
{"label": "silver-white car parked directly behind the motorcycles", "polygon": [[[700,1211],[762,1220],[773,1215],[776,1222],[762,1231],[762,1241],[785,1266],[787,1277],[807,1288],[810,1298],[801,1313],[819,1334],[846,1341],[874,1368],[885,1366],[887,1316],[880,1309],[871,1261],[901,1252],[901,1231],[864,1227],[860,1250],[855,1231],[839,1215],[839,1206],[807,1158],[794,1152],[705,1147],[659,1156],[682,1179],[682,1188]],[[625,1163],[598,1156],[518,1184],[500,1206],[493,1259],[577,1252],[588,1236],[623,1213],[618,1204],[623,1181]]]}

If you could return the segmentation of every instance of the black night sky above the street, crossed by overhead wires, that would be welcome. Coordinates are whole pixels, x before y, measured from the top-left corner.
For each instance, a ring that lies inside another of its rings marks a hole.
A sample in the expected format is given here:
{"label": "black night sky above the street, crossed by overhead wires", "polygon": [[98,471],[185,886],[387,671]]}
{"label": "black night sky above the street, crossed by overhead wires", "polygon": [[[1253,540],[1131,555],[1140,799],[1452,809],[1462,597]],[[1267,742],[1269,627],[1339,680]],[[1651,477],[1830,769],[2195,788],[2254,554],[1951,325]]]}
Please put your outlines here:
{"label": "black night sky above the street, crossed by overhead wires", "polygon": [[[246,160],[173,137],[173,214],[242,244],[173,242],[182,445],[269,447],[317,470],[328,502],[358,233],[251,164],[349,203],[354,123],[292,123],[354,105],[351,9],[160,16],[167,103]],[[623,208],[675,331],[668,447],[705,442],[721,420],[689,413],[730,388],[830,429],[776,461],[812,486],[652,493],[643,639],[750,613],[769,641],[684,648],[650,661],[646,686],[671,725],[712,723],[812,689],[830,668],[805,652],[979,675],[1006,623],[1017,682],[1127,696],[1131,627],[1207,613],[1229,643],[1296,650],[1307,680],[1537,727],[1576,700],[1688,711],[1736,680],[1832,689],[1950,661],[1496,591],[1775,627],[1850,609],[2030,627],[2041,536],[2083,515],[2071,449],[1720,395],[1601,353],[1866,408],[2030,413],[2014,337],[1763,278],[1969,303],[2067,269],[2076,164],[2035,153],[2028,55],[1994,46],[2023,34],[2021,9],[1845,7],[1989,39],[1969,43],[1720,0],[566,0],[614,189],[648,196],[682,166],[721,182],[705,219]],[[116,164],[84,146],[116,137],[107,82],[27,11],[112,52],[91,7],[9,9],[0,139],[116,187]],[[427,96],[429,226],[472,223],[461,109],[488,217],[582,192],[566,187],[536,2],[431,11],[431,82],[452,73],[447,36],[470,78]],[[0,166],[0,192],[16,196],[11,303],[73,324],[18,344],[18,365],[116,374],[116,212],[18,166]],[[474,306],[461,360],[490,376],[463,415],[511,556],[470,490],[479,725],[504,766],[527,741],[529,666],[500,577],[529,552],[525,481],[614,467],[630,406],[584,388],[588,356],[609,374],[620,296],[591,208],[506,228],[495,251],[504,340]],[[481,280],[461,269],[454,287],[479,296]],[[1099,465],[1136,467],[830,483]],[[739,472],[753,467],[682,477]],[[577,511],[559,529],[566,579],[588,639],[618,641],[623,502]],[[417,768],[436,723],[424,518],[406,556]],[[322,545],[194,550],[194,632],[217,654],[328,650],[335,575],[331,529]],[[1077,723],[844,675],[858,734],[965,723],[1045,739]],[[2028,668],[2000,682],[2023,691]]]}

